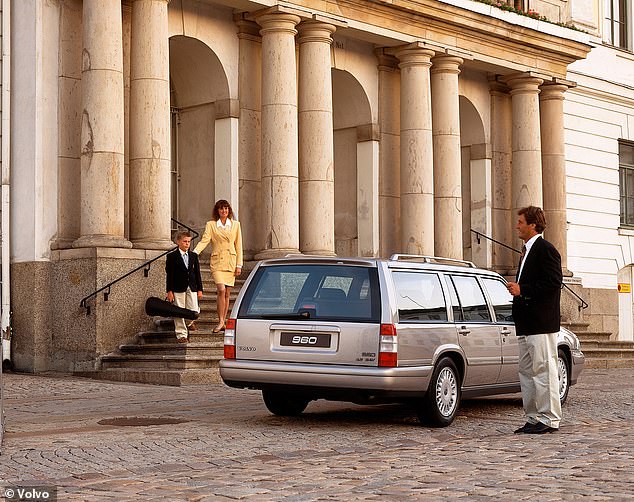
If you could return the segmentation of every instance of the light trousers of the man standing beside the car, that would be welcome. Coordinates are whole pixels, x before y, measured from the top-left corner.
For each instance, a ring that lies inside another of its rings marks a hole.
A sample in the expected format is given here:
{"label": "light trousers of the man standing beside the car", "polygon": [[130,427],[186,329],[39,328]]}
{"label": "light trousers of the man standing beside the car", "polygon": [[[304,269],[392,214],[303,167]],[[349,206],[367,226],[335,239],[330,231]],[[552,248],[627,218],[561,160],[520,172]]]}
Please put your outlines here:
{"label": "light trousers of the man standing beside the car", "polygon": [[557,333],[519,336],[519,376],[527,422],[559,428]]}

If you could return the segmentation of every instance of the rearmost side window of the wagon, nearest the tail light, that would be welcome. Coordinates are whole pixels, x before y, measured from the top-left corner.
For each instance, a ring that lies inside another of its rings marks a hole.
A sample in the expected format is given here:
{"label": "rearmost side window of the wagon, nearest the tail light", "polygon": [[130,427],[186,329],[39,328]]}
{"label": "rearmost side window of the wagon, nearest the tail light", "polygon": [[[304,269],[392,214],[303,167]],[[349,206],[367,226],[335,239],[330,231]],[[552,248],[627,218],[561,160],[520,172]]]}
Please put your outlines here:
{"label": "rearmost side window of the wagon, nearest the tail light", "polygon": [[437,274],[394,272],[399,320],[447,321],[445,296]]}

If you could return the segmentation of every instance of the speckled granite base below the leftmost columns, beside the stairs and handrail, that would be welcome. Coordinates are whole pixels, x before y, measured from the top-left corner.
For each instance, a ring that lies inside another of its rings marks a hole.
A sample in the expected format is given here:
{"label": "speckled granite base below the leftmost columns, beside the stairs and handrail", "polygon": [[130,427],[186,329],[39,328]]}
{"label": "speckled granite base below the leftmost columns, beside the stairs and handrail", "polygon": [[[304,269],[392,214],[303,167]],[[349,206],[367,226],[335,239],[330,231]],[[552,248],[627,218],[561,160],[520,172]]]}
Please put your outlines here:
{"label": "speckled granite base below the leftmost columns, beside the stairs and handrail", "polygon": [[98,369],[101,356],[151,326],[144,305],[149,296],[165,294],[164,258],[151,265],[147,278],[139,270],[113,285],[107,301],[103,293],[90,299],[87,315],[81,299],[144,263],[146,253],[97,248],[54,254],[55,261],[12,265],[14,367],[28,372]]}

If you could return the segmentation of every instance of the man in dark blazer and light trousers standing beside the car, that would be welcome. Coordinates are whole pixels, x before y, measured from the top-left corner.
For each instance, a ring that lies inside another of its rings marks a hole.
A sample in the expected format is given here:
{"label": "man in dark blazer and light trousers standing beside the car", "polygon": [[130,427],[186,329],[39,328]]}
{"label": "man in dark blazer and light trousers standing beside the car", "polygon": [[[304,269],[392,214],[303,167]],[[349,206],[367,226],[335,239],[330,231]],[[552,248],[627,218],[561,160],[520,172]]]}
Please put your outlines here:
{"label": "man in dark blazer and light trousers standing beside the car", "polygon": [[560,323],[561,256],[542,237],[541,208],[518,211],[517,233],[524,241],[513,295],[513,320],[519,345],[519,377],[526,423],[516,433],[543,434],[559,429],[561,402],[557,369]]}

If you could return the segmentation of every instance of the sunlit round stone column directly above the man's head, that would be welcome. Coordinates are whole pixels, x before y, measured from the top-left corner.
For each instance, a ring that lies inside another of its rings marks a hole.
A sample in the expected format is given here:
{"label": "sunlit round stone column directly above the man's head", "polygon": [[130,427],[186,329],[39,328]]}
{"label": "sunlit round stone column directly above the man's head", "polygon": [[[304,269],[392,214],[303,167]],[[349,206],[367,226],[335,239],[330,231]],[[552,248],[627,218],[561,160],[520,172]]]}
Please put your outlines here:
{"label": "sunlit round stone column directly above the man's head", "polygon": [[[513,215],[525,206],[543,207],[542,152],[539,127],[539,86],[530,74],[507,78],[513,108]],[[513,224],[515,224],[515,219]]]}

